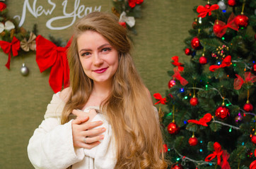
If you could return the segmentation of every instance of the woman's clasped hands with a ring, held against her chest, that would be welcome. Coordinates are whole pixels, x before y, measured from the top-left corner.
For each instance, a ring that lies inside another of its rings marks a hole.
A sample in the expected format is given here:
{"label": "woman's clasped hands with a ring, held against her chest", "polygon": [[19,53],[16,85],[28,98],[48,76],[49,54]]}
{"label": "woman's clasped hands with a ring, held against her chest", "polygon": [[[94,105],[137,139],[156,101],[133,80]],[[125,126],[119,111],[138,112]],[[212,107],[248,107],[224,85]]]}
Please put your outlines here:
{"label": "woman's clasped hands with a ring, held against her chest", "polygon": [[[98,127],[103,124],[102,121],[91,122],[93,117],[97,115],[95,109],[91,109],[89,113],[79,110],[74,110],[72,113],[76,115],[76,119],[71,123],[74,147],[92,149],[98,146],[100,144],[99,140],[104,139],[102,133],[106,129],[104,127]],[[98,128],[93,129],[94,127]]]}

